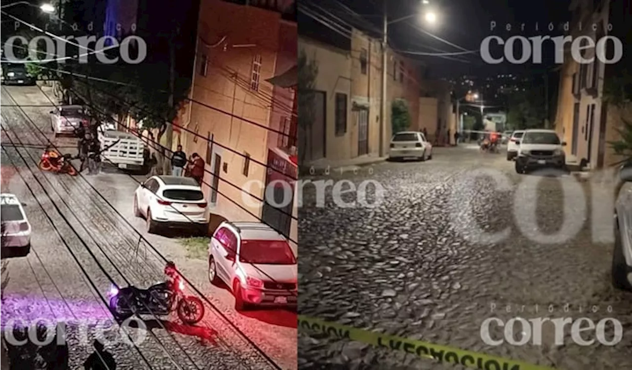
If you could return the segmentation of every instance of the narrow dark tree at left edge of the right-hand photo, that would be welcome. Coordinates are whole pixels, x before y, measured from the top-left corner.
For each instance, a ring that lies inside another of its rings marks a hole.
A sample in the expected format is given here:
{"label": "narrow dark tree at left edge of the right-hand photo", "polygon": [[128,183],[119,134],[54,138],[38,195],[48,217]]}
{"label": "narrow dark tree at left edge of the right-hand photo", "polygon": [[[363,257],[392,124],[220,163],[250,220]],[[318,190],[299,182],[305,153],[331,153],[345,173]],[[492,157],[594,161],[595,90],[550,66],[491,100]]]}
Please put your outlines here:
{"label": "narrow dark tree at left edge of the right-hand photo", "polygon": [[298,55],[298,128],[302,138],[300,143],[301,162],[307,155],[308,137],[311,135],[312,125],[315,119],[315,88],[318,77],[318,64],[315,59],[308,58],[305,50],[301,49]]}

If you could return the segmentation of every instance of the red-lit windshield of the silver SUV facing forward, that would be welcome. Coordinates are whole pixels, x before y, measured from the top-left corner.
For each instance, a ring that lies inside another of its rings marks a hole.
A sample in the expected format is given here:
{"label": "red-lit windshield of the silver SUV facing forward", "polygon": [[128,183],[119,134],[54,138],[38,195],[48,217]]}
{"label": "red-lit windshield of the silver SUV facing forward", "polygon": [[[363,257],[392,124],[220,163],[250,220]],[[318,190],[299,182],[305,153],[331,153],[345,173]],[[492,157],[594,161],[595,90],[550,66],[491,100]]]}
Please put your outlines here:
{"label": "red-lit windshield of the silver SUV facing forward", "polygon": [[241,241],[241,262],[255,265],[294,265],[296,258],[285,241]]}

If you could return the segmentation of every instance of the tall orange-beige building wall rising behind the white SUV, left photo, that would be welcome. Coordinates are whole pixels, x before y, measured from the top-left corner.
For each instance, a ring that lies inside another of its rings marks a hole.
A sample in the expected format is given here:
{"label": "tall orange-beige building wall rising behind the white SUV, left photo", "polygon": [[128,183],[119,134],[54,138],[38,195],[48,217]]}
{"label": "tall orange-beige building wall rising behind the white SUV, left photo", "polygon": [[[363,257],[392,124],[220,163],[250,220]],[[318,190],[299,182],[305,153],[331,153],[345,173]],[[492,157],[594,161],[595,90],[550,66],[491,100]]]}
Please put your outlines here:
{"label": "tall orange-beige building wall rising behind the white SUV, left photo", "polygon": [[[231,21],[235,16],[242,21]],[[274,76],[279,21],[280,16],[277,13],[260,8],[238,6],[217,0],[202,0],[200,4],[199,37],[212,43],[226,37],[226,48],[198,47],[192,87],[193,99],[225,112],[232,112],[234,117],[200,104],[193,104],[188,128],[204,138],[214,135],[217,144],[210,146],[206,140],[195,138],[195,135],[190,133],[183,133],[181,141],[188,155],[197,152],[205,160],[210,150],[221,155],[219,178],[225,181],[219,181],[218,189],[221,194],[218,194],[217,203],[211,210],[212,213],[231,221],[256,220],[261,216],[260,201],[251,198],[240,188],[244,188],[246,182],[255,180],[258,185],[252,186],[248,192],[258,198],[263,197],[262,184],[265,181],[266,169],[253,160],[265,164],[267,159],[268,130],[265,128],[269,126],[270,108],[266,99],[272,95],[272,86],[265,80]],[[243,24],[248,24],[248,27],[243,27]],[[256,46],[233,47],[245,44]],[[200,74],[200,54],[207,56],[206,76]],[[259,88],[252,90],[249,86],[253,60],[256,56],[261,57],[262,63]],[[263,128],[242,121],[239,117],[256,122]],[[253,159],[250,160],[247,176],[243,174],[245,158],[240,155],[246,153]],[[206,164],[209,171],[214,164],[213,158],[214,156],[211,157],[211,162],[207,161]],[[204,182],[212,184],[212,176],[208,172],[205,174]],[[207,198],[210,198],[209,185],[204,185],[203,189]],[[240,206],[253,213],[255,217],[241,210]]]}

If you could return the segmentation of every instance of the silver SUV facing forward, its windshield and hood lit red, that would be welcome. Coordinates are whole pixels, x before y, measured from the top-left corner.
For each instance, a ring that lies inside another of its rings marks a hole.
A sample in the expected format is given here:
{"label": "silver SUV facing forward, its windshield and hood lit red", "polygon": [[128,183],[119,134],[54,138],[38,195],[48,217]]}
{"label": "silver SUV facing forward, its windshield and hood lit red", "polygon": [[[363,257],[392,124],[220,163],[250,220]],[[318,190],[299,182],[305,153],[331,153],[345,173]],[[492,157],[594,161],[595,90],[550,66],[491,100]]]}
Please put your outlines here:
{"label": "silver SUV facing forward, its windshield and hood lit red", "polygon": [[224,282],[235,308],[298,303],[298,264],[288,240],[260,222],[222,222],[209,243],[209,280]]}

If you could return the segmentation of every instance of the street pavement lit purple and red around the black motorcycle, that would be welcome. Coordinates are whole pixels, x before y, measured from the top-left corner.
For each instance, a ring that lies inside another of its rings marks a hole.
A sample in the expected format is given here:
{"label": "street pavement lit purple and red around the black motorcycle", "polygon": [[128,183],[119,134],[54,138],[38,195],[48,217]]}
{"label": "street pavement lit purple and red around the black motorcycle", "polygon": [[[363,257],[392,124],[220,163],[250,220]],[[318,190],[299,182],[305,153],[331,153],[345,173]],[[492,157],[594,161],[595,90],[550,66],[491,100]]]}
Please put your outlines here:
{"label": "street pavement lit purple and red around the black motorcycle", "polygon": [[[50,104],[37,87],[0,88],[0,104],[16,103]],[[24,107],[23,110],[25,114],[15,107],[0,108],[0,143],[6,149],[6,152],[0,149],[1,191],[18,194],[27,203],[33,248],[27,258],[9,261],[6,302],[0,306],[2,321],[44,317],[74,324],[70,329],[70,357],[71,366],[75,367],[92,350],[90,345],[76,344],[79,338],[76,323],[88,319],[111,325],[100,296],[107,299],[110,278],[121,286],[128,283],[148,286],[163,280],[164,261],[147,243],[138,242],[137,230],[143,230],[144,223],[131,212],[133,189],[137,187],[135,178],[119,173],[69,177],[40,172],[37,162],[43,152],[41,146],[52,139],[49,120],[52,109]],[[63,152],[74,153],[71,147],[75,141],[52,140]],[[18,167],[17,173],[12,171],[13,165]],[[47,215],[52,218],[52,225]],[[147,323],[154,327],[155,337],[148,335],[138,347],[154,369],[271,368],[229,321],[283,369],[295,367],[296,314],[234,311],[234,299],[228,290],[208,282],[205,261],[188,258],[184,248],[173,239],[147,236],[144,231],[142,234],[151,246],[174,260],[217,307],[214,311],[207,305],[205,320],[197,328],[180,326],[177,318],[164,321],[150,318]],[[90,287],[90,281],[97,291]],[[169,330],[164,330],[165,325]],[[88,331],[90,337],[94,331],[94,328]],[[121,369],[147,368],[133,347],[113,345],[112,351]]]}

